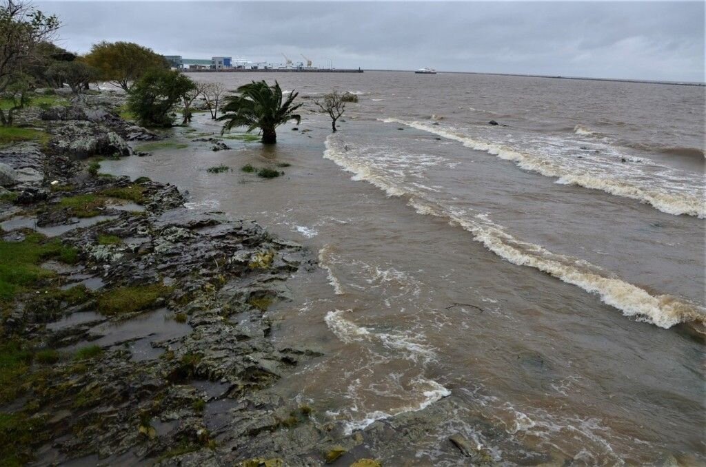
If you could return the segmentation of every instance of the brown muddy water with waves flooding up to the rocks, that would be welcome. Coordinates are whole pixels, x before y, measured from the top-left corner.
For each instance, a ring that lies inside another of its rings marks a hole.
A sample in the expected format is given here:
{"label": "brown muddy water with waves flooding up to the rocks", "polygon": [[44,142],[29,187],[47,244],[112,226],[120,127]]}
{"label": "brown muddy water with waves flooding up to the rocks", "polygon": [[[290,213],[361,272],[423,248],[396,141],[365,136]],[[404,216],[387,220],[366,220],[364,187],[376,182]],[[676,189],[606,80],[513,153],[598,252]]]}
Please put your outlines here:
{"label": "brown muddy water with waves flooding up to the rocks", "polygon": [[[690,331],[705,317],[703,87],[191,76],[360,96],[334,135],[306,105],[276,147],[231,139],[213,152],[191,142],[220,129],[197,114],[173,130],[189,147],[102,162],[318,256],[294,301],[270,311],[283,345],[325,353],[280,382],[282,395],[349,431],[455,399],[390,465],[457,465],[440,449],[457,432],[497,460],[519,442],[576,464],[706,462],[704,347]],[[273,180],[240,171],[282,163]],[[219,164],[233,170],[206,171]]]}

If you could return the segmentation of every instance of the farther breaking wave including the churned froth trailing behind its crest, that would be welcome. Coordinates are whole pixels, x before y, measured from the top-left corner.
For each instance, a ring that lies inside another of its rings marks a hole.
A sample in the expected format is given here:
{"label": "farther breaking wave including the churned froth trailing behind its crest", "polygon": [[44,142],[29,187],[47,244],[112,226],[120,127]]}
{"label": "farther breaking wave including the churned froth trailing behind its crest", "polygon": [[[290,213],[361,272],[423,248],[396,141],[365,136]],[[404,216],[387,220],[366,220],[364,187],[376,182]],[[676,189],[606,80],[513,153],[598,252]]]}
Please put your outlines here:
{"label": "farther breaking wave including the churned froth trailing behind its crest", "polygon": [[[645,181],[645,173],[636,171],[635,174],[632,174],[633,176],[626,176],[630,172],[625,165],[616,167],[612,162],[606,164],[605,159],[592,163],[588,155],[582,155],[582,160],[586,162],[578,164],[575,160],[569,160],[568,157],[562,160],[556,157],[520,152],[512,147],[472,138],[469,135],[457,133],[441,126],[431,126],[424,122],[400,119],[383,119],[381,121],[400,123],[461,142],[471,149],[488,152],[501,159],[513,161],[522,169],[535,171],[544,176],[556,177],[558,178],[557,183],[602,190],[611,195],[631,198],[650,204],[667,214],[706,217],[703,182],[699,183],[698,188],[694,188],[693,181],[681,178],[671,169],[664,168],[664,178],[669,179],[669,184],[656,186],[654,178]],[[616,159],[616,163],[619,164],[620,159]],[[616,175],[618,170],[620,172]]]}

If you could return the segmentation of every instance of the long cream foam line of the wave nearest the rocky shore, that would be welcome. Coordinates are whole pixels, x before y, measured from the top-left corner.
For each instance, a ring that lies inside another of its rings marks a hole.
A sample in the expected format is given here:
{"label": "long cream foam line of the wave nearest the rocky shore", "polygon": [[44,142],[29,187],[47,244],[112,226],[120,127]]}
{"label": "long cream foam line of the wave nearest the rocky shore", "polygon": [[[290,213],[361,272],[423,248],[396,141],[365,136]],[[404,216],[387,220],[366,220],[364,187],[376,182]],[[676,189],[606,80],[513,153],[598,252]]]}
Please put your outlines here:
{"label": "long cream foam line of the wave nearest the rocky shore", "polygon": [[[425,202],[421,193],[410,193],[400,186],[391,186],[384,176],[373,174],[363,163],[350,160],[346,152],[335,150],[332,136],[326,140],[324,157],[333,160],[354,179],[366,180],[389,195],[409,196],[408,204],[419,214],[449,219],[473,234],[475,241],[515,265],[529,266],[581,289],[596,293],[601,301],[621,310],[623,315],[637,317],[665,329],[680,322],[706,324],[706,309],[670,295],[651,295],[644,289],[604,272],[601,268],[575,257],[551,253],[541,245],[520,241],[505,232],[502,226],[491,222],[486,214],[467,217],[465,212]],[[421,200],[420,200],[421,198]]]}

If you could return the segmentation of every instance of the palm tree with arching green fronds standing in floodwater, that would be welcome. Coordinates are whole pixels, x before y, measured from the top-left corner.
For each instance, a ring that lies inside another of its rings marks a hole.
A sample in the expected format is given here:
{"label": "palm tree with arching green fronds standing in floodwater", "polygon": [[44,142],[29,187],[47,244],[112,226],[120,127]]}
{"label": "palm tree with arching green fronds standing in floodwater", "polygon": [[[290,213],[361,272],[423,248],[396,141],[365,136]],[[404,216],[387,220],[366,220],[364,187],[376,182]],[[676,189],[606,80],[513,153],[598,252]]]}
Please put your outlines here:
{"label": "palm tree with arching green fronds standing in floodwater", "polygon": [[242,85],[236,92],[238,95],[227,97],[225,106],[221,107],[225,112],[218,119],[225,121],[221,134],[234,126],[247,126],[248,132],[260,128],[262,142],[273,144],[277,142],[277,126],[289,120],[296,120],[297,124],[301,121],[301,116],[294,114],[301,104],[292,105],[299,92],[292,91],[282,104],[282,89],[277,81],[274,86],[268,86],[265,80],[253,81]]}

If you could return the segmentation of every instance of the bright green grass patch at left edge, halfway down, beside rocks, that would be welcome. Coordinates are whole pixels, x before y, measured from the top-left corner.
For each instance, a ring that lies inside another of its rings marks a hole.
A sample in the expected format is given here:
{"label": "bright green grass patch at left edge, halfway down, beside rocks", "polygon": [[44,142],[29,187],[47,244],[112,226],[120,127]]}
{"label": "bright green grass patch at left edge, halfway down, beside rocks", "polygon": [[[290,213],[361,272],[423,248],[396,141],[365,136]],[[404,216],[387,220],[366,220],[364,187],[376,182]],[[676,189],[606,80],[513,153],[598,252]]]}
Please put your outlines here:
{"label": "bright green grass patch at left edge, halfway down, beside rocks", "polygon": [[46,241],[40,233],[28,233],[20,242],[0,241],[0,303],[11,301],[42,279],[54,277],[54,272],[39,266],[50,257],[71,264],[78,259],[78,250],[56,239]]}

